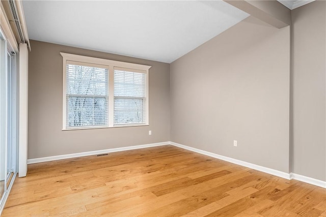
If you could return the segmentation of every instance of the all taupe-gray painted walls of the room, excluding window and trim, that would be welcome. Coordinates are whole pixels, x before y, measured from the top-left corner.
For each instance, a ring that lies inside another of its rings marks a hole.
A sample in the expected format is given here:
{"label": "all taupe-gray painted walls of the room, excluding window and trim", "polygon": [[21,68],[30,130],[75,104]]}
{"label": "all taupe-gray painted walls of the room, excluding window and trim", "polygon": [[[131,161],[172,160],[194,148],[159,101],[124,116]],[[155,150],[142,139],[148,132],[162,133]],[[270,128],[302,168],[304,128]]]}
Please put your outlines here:
{"label": "all taupe-gray painted walls of the room, excluding window and trim", "polygon": [[[29,159],[170,140],[326,181],[325,4],[292,11],[292,42],[249,17],[171,65],[31,41]],[[150,126],[61,131],[59,52],[152,66]]]}

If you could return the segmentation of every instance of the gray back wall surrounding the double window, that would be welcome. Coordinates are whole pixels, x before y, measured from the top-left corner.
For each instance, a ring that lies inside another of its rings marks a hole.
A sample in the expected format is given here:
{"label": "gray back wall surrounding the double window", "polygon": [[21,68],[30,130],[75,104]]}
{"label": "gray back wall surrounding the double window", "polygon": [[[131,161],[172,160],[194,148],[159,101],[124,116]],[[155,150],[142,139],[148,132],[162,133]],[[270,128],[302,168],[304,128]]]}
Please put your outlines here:
{"label": "gray back wall surrounding the double window", "polygon": [[[28,159],[170,140],[169,64],[33,40],[31,47]],[[62,131],[60,52],[152,66],[149,70],[150,126]]]}

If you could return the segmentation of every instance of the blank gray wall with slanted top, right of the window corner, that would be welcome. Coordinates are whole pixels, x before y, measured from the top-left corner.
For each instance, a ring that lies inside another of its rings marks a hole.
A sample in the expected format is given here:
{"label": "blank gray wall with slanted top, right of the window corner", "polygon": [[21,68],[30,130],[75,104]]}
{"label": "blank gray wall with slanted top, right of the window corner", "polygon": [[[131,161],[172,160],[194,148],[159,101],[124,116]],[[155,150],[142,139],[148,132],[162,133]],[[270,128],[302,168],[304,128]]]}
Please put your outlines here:
{"label": "blank gray wall with slanted top, right of the window corner", "polygon": [[171,141],[289,172],[289,76],[289,26],[244,19],[170,65]]}

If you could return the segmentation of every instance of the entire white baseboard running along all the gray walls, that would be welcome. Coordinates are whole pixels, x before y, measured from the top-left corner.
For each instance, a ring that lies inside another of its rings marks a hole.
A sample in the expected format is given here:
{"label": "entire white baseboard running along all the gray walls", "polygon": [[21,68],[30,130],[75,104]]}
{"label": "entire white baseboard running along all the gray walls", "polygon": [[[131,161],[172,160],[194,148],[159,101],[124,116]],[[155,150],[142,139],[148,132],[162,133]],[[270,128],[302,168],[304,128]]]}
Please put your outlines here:
{"label": "entire white baseboard running along all the gray walls", "polygon": [[222,156],[220,154],[204,151],[204,150],[201,150],[201,149],[198,149],[198,148],[193,148],[193,147],[189,147],[189,146],[186,146],[186,145],[181,145],[181,144],[178,144],[178,143],[175,143],[175,142],[170,142],[170,141],[169,142],[158,142],[158,143],[152,143],[152,144],[146,144],[146,145],[134,145],[134,146],[128,146],[128,147],[121,147],[121,148],[110,148],[110,149],[104,149],[104,150],[96,150],[96,151],[87,151],[87,152],[80,152],[80,153],[64,154],[64,155],[51,156],[51,157],[45,157],[45,158],[28,159],[27,164],[36,164],[36,163],[42,163],[42,162],[48,162],[48,161],[56,161],[56,160],[69,159],[69,158],[85,157],[85,156],[91,156],[91,155],[101,154],[101,153],[112,153],[112,152],[117,152],[117,151],[125,151],[125,150],[133,150],[133,149],[140,149],[140,148],[156,147],[156,146],[161,146],[161,145],[174,145],[176,147],[183,148],[183,149],[190,150],[190,151],[194,151],[194,152],[197,152],[197,153],[201,153],[201,154],[204,154],[204,155],[212,157],[212,158],[216,158],[216,159],[227,161],[227,162],[237,164],[237,165],[240,165],[240,166],[248,167],[248,168],[258,170],[258,171],[261,171],[261,172],[265,172],[265,173],[268,173],[268,174],[271,174],[271,175],[276,175],[276,176],[279,176],[281,178],[295,179],[295,180],[298,180],[298,181],[303,181],[303,182],[313,184],[313,185],[316,185],[316,186],[319,186],[319,187],[322,187],[322,188],[326,189],[326,181],[318,180],[318,179],[303,176],[303,175],[298,175],[298,174],[295,174],[295,173],[286,173],[286,172],[282,172],[282,171],[279,171],[279,170],[270,169],[270,168],[267,168],[267,167],[263,167],[263,166],[248,163],[248,162],[245,162],[245,161],[240,161],[240,160],[237,160],[237,159],[225,157],[225,156]]}

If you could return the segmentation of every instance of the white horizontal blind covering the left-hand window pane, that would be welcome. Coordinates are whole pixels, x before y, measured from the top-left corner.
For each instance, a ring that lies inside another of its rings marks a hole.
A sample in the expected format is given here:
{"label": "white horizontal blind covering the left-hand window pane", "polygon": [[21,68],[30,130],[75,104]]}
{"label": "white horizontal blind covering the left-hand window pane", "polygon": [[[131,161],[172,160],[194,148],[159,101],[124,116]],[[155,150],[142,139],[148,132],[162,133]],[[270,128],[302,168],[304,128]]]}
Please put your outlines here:
{"label": "white horizontal blind covering the left-hand window pane", "polygon": [[66,65],[66,128],[108,125],[108,70]]}

